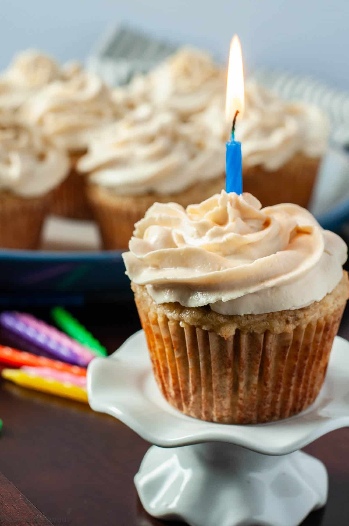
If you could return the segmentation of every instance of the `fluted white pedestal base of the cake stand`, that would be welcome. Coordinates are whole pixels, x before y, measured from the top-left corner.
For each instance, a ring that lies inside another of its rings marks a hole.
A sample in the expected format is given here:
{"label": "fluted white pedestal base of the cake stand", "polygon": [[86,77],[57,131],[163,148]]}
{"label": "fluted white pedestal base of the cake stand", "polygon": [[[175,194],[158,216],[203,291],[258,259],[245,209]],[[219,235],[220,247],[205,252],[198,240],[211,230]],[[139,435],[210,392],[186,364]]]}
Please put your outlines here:
{"label": "fluted white pedestal base of the cake stand", "polygon": [[135,477],[146,511],[190,526],[295,526],[327,498],[323,463],[301,451],[271,457],[228,443],[152,446]]}

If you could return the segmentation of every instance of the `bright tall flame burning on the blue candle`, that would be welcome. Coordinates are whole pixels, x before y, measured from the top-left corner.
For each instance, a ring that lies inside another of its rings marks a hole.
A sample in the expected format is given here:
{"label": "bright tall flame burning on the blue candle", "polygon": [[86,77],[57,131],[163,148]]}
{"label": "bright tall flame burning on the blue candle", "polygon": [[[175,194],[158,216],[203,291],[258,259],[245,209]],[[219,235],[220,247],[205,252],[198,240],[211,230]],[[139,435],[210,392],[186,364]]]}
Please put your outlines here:
{"label": "bright tall flame burning on the blue candle", "polygon": [[231,126],[235,112],[241,118],[244,109],[244,85],[241,44],[238,35],[230,43],[227,97],[225,98],[225,121]]}

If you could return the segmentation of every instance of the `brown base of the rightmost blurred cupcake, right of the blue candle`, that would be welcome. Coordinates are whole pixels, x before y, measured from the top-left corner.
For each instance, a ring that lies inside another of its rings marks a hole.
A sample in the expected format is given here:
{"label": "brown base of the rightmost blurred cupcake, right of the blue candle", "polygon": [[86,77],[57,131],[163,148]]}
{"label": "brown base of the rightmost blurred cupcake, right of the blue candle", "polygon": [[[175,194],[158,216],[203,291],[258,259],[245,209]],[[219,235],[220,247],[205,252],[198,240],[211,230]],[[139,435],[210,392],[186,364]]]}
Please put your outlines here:
{"label": "brown base of the rightmost blurred cupcake, right of the blue candle", "polygon": [[243,190],[260,200],[262,206],[294,203],[306,208],[312,196],[321,159],[302,153],[278,170],[265,170],[262,166],[243,167]]}

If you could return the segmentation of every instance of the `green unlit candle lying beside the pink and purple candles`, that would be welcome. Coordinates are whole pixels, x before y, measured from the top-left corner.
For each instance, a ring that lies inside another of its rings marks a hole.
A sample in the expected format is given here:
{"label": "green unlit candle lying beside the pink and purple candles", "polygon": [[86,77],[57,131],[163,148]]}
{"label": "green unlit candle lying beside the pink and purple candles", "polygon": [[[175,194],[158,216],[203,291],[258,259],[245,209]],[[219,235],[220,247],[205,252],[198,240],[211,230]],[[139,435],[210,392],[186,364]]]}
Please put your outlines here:
{"label": "green unlit candle lying beside the pink and purple candles", "polygon": [[70,312],[62,307],[55,307],[51,311],[51,316],[56,325],[71,338],[91,349],[97,356],[107,356],[107,349],[77,319],[71,316]]}

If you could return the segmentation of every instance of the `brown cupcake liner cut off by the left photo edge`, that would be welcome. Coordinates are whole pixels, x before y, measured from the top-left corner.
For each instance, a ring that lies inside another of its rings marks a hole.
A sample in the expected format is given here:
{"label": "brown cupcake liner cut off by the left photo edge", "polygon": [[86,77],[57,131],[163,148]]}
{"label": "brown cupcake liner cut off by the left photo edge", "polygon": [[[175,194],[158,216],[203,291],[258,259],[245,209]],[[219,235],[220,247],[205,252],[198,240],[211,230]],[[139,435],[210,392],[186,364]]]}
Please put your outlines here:
{"label": "brown cupcake liner cut off by the left photo edge", "polygon": [[24,198],[0,192],[0,247],[38,248],[52,193]]}

